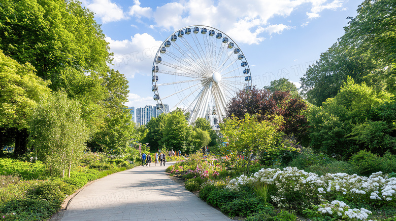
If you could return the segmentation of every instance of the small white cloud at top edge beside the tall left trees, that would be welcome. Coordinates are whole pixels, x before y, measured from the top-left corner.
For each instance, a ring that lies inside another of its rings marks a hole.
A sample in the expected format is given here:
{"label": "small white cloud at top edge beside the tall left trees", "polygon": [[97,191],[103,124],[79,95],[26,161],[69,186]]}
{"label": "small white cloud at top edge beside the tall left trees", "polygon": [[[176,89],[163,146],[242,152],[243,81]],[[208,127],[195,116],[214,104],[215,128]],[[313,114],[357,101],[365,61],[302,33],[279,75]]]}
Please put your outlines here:
{"label": "small white cloud at top edge beside the tall left trees", "polygon": [[128,19],[122,11],[122,7],[112,3],[111,0],[82,0],[82,3],[94,12],[96,17],[101,18],[102,23]]}

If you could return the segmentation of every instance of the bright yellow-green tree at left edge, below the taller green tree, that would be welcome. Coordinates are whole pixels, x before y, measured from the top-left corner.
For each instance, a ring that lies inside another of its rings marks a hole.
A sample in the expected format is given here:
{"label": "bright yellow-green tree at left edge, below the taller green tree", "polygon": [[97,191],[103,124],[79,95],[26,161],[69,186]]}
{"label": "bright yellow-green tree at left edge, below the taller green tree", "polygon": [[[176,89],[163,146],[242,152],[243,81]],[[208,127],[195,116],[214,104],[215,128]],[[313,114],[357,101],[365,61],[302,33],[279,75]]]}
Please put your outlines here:
{"label": "bright yellow-green tree at left edge, below the taller green tree", "polygon": [[18,64],[0,50],[0,143],[15,142],[16,155],[27,150],[27,120],[37,103],[50,94],[49,83],[35,74],[34,67]]}

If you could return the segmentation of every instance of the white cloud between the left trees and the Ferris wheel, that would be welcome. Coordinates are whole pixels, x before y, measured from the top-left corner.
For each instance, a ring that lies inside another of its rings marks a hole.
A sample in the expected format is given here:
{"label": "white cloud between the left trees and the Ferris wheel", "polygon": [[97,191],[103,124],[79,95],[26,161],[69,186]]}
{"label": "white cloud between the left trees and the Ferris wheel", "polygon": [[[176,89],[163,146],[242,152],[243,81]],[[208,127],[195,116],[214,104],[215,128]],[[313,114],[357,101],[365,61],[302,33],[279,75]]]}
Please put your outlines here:
{"label": "white cloud between the left trees and the Ferris wheel", "polygon": [[135,34],[130,40],[106,37],[106,41],[110,42],[110,51],[114,53],[112,68],[128,78],[133,78],[137,73],[151,75],[154,56],[162,41],[147,33]]}

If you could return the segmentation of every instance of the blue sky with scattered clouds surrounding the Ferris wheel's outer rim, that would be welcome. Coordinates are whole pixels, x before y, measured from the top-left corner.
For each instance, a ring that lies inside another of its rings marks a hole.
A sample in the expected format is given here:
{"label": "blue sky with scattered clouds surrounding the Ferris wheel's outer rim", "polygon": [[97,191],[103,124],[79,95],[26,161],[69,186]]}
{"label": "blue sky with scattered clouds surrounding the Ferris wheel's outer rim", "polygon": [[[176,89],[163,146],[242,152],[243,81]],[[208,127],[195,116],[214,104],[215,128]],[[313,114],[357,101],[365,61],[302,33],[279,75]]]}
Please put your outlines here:
{"label": "blue sky with scattered clouds surrounding the Ferris wheel's outer rim", "polygon": [[[102,24],[112,68],[129,81],[127,106],[155,105],[151,68],[161,43],[189,25],[231,37],[249,63],[253,85],[280,77],[300,85],[306,68],[344,33],[358,0],[83,0]],[[165,96],[165,95],[161,95]],[[176,101],[174,101],[176,102]],[[171,102],[172,103],[172,102]]]}

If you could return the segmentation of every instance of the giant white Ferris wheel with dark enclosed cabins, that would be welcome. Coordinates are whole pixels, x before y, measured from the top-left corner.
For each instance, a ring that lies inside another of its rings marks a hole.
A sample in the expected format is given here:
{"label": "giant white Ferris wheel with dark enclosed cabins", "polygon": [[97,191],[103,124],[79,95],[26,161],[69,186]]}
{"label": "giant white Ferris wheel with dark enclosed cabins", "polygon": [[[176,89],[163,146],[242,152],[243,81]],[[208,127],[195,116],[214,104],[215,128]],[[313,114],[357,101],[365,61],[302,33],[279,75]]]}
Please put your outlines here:
{"label": "giant white Ferris wheel with dark enclosed cabins", "polygon": [[167,111],[179,107],[189,112],[189,124],[209,116],[217,116],[211,124],[218,124],[227,102],[252,86],[249,64],[237,43],[203,25],[184,27],[164,40],[151,73],[156,108],[165,111],[164,105],[173,102]]}

